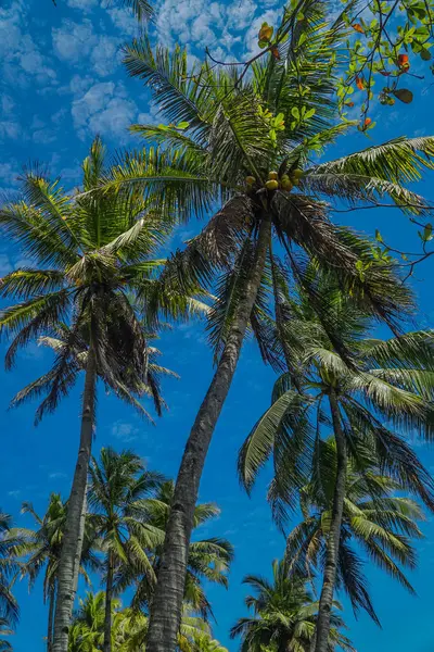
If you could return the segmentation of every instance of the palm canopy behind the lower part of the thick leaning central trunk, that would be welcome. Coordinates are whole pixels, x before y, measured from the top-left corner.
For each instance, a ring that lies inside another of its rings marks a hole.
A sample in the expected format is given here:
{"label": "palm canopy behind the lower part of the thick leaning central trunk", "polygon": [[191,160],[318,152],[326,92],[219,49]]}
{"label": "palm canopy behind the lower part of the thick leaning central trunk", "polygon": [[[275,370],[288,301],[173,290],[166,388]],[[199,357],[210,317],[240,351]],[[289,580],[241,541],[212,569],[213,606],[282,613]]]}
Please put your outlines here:
{"label": "palm canopy behind the lower part of the thick leaning central trunk", "polygon": [[[152,531],[156,535],[154,546],[152,548],[148,547],[148,554],[155,574],[158,570],[164,534],[174,499],[174,481],[166,480],[161,485],[155,496],[146,500],[144,506],[144,518],[148,527],[152,528]],[[199,503],[194,511],[194,528],[208,523],[218,516],[219,513],[219,507],[214,503]],[[203,586],[204,581],[216,582],[227,588],[228,570],[232,559],[233,547],[227,539],[213,537],[194,540],[190,543],[184,601],[204,618],[213,615],[212,606],[206,598]],[[145,574],[140,578],[140,573],[135,572],[133,568],[126,569],[124,576],[120,574],[119,585],[122,588],[128,586],[131,581],[136,585],[132,604],[137,607],[149,609],[154,588],[153,582],[150,582],[150,576]]]}

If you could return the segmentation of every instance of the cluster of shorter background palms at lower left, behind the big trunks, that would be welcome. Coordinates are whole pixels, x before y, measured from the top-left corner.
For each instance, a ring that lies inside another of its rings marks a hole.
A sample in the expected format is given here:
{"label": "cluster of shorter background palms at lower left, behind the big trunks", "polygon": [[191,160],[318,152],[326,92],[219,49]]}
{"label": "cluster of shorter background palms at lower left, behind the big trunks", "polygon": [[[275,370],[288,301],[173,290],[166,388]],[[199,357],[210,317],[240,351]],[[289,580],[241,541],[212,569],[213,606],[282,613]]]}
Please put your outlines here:
{"label": "cluster of shorter background palms at lower left, behind the big trunks", "polygon": [[[92,457],[84,547],[77,573],[88,588],[92,587],[97,574],[104,591],[87,592],[80,599],[68,635],[68,650],[132,652],[141,649],[173,494],[173,481],[146,471],[141,459],[131,451],[118,453],[102,449],[99,461]],[[67,511],[68,503],[58,493],[50,496],[42,517],[25,502],[22,513],[31,515],[35,528],[14,528],[9,523],[3,537],[8,551],[2,550],[2,559],[13,567],[10,581],[2,578],[1,605],[5,616],[16,620],[17,605],[11,586],[27,578],[33,589],[38,576],[43,575],[49,651],[53,649],[53,617]],[[197,504],[195,527],[218,514],[219,509],[214,503]],[[180,636],[188,640],[193,638],[186,642],[186,650],[197,649],[194,648],[196,638],[213,640],[208,625],[212,607],[204,580],[227,586],[232,556],[232,546],[224,538],[191,543],[184,589],[184,629]],[[119,595],[126,591],[131,594],[130,606],[120,609]]]}

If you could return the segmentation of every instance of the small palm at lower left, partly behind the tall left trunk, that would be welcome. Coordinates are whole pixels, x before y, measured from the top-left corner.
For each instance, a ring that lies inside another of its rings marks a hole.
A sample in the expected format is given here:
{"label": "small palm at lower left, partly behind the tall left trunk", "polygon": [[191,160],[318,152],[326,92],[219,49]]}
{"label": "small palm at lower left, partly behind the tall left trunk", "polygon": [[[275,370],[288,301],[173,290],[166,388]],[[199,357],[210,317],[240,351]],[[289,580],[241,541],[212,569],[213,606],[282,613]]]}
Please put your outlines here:
{"label": "small palm at lower left, partly behind the tall left trunk", "polygon": [[[22,513],[33,516],[36,529],[21,528],[17,530],[22,542],[15,547],[14,554],[17,559],[22,560],[20,562],[20,575],[21,577],[28,577],[30,589],[34,587],[40,572],[44,569],[43,602],[48,602],[47,650],[51,652],[58,573],[65,532],[67,504],[63,502],[59,493],[51,493],[43,517],[35,512],[33,504],[29,502],[23,503]],[[86,568],[95,568],[98,566],[98,561],[93,555],[94,543],[94,535],[90,531],[88,521],[86,521],[85,541],[79,567],[79,573],[85,577],[86,581],[89,581]]]}

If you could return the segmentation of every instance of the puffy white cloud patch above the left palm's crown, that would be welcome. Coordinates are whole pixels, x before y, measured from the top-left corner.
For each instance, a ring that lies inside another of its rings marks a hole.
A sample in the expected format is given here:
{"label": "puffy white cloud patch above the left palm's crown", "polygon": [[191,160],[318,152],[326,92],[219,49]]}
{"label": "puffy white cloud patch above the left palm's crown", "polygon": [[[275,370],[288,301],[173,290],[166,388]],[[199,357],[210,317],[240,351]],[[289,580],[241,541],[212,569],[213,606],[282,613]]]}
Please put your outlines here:
{"label": "puffy white cloud patch above the left palm's crown", "polygon": [[126,97],[122,84],[100,82],[74,100],[72,114],[79,138],[85,139],[89,133],[105,134],[125,141],[127,127],[135,122],[137,106]]}

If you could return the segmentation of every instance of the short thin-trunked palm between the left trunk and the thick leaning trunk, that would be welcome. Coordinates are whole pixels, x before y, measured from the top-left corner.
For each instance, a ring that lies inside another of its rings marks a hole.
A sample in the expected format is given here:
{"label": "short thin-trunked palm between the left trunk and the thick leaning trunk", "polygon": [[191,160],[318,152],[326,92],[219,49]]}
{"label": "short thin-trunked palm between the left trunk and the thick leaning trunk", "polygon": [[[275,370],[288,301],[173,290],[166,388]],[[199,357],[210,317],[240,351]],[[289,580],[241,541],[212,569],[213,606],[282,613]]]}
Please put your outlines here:
{"label": "short thin-trunked palm between the left trunk and the thick leaning trunk", "polygon": [[112,599],[115,575],[125,564],[146,577],[154,577],[146,551],[161,544],[163,532],[146,523],[146,500],[163,478],[144,471],[142,460],[131,451],[102,449],[100,462],[92,457],[88,493],[89,521],[101,539],[105,568],[104,652],[112,650]]}

